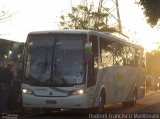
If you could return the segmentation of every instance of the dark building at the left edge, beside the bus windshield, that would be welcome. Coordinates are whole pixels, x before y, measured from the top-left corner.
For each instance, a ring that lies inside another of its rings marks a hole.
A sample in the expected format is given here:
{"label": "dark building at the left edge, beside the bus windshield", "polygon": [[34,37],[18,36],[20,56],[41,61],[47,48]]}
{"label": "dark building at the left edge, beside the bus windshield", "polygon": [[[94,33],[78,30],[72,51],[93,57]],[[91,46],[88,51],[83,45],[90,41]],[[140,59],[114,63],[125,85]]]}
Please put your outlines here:
{"label": "dark building at the left edge, beside the bus windshield", "polygon": [[17,78],[17,70],[21,69],[23,42],[16,42],[0,38],[0,68],[8,63],[14,64],[14,75]]}

